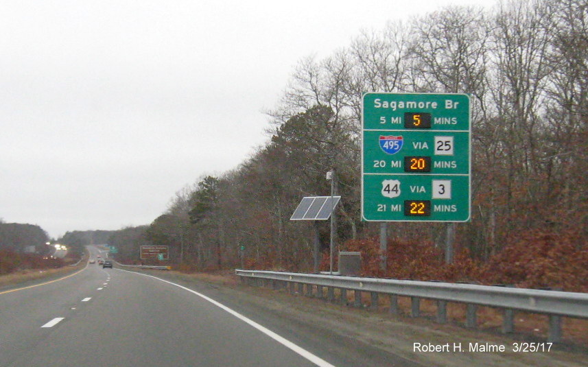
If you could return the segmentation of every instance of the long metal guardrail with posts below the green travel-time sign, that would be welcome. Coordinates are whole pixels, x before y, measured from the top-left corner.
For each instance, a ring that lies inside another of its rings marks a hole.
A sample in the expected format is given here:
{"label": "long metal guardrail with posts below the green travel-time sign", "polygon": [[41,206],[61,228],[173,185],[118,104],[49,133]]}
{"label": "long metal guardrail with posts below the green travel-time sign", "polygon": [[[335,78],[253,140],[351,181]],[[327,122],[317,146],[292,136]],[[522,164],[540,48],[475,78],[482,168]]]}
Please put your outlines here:
{"label": "long metal guardrail with posts below the green travel-time sign", "polygon": [[333,289],[342,289],[341,298],[345,298],[342,299],[345,303],[346,290],[349,289],[355,291],[356,306],[361,305],[361,292],[371,293],[372,308],[377,307],[377,295],[386,294],[390,296],[390,312],[392,313],[397,313],[398,296],[411,297],[413,317],[419,316],[421,298],[437,300],[438,322],[447,322],[448,302],[465,303],[467,304],[467,327],[475,327],[478,306],[502,308],[504,309],[502,327],[504,333],[513,332],[515,310],[544,313],[550,316],[549,340],[552,342],[561,340],[561,316],[588,318],[588,294],[584,293],[259,270],[237,269],[235,274],[242,279],[281,282],[290,286],[291,292],[294,292],[294,287],[298,284],[298,292],[303,293],[303,287],[306,285],[306,294],[309,296],[313,295],[314,286],[320,297],[323,296],[322,287],[327,287],[328,298],[331,300],[334,300]]}

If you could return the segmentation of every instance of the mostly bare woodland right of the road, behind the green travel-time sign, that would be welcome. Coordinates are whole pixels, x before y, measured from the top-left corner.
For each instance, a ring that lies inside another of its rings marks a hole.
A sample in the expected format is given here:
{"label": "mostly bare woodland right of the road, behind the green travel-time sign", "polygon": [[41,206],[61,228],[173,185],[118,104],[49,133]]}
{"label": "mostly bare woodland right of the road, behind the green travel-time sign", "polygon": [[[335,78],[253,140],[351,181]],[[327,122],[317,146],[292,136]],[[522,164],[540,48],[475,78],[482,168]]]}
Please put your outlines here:
{"label": "mostly bare woodland right of the road, behind the green travel-time sign", "polygon": [[[184,268],[308,271],[314,230],[325,250],[329,226],[290,215],[303,196],[330,194],[325,174],[334,170],[342,196],[336,245],[373,245],[379,226],[360,217],[362,95],[468,93],[471,221],[456,226],[456,261],[499,271],[500,261],[516,260],[508,252],[550,259],[553,268],[565,259],[588,263],[587,28],[586,0],[518,0],[364,31],[325,58],[296,64],[268,111],[266,145],[181,189],[150,225],[120,230],[111,242],[128,261],[140,244],[158,244]],[[436,249],[446,227],[390,223],[388,237],[405,244],[401,251],[425,246],[420,253],[442,259]]]}

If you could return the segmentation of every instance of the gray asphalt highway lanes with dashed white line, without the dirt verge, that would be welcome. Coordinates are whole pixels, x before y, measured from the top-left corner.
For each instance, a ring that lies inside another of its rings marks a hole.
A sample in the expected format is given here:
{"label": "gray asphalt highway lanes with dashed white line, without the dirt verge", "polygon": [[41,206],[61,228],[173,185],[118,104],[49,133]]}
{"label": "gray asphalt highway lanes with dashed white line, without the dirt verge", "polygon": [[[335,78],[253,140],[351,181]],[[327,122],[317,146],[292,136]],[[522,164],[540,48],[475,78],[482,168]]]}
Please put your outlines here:
{"label": "gray asphalt highway lanes with dashed white line, without the dirt verge", "polygon": [[[0,366],[362,365],[321,335],[287,324],[266,329],[273,316],[256,317],[187,287],[88,264],[65,279],[0,292]],[[406,363],[385,356],[379,365],[414,366]]]}

